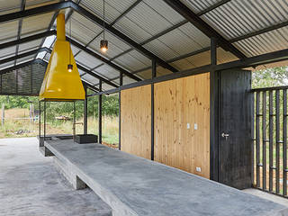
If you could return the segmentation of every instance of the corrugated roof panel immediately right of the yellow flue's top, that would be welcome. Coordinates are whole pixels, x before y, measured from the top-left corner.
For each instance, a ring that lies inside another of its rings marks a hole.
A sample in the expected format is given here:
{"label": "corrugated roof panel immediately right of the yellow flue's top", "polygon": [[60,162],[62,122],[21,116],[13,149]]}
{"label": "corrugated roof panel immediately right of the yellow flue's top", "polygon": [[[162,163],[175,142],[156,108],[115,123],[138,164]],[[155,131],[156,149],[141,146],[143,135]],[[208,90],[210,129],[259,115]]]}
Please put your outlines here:
{"label": "corrugated roof panel immediately right of the yellow flue's top", "polygon": [[[95,23],[86,19],[83,15],[73,13],[71,21],[72,38],[76,39],[83,44],[87,44],[103,29]],[[69,22],[66,23],[66,33],[69,35]]]}

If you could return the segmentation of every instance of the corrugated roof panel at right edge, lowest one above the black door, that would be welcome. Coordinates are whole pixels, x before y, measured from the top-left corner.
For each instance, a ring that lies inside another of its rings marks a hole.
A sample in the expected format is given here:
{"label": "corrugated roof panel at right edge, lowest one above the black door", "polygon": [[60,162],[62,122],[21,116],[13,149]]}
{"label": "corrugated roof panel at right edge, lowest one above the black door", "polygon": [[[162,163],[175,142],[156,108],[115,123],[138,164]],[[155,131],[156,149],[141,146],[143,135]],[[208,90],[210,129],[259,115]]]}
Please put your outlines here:
{"label": "corrugated roof panel at right edge, lowest one above the black door", "polygon": [[233,43],[248,57],[288,48],[288,26]]}

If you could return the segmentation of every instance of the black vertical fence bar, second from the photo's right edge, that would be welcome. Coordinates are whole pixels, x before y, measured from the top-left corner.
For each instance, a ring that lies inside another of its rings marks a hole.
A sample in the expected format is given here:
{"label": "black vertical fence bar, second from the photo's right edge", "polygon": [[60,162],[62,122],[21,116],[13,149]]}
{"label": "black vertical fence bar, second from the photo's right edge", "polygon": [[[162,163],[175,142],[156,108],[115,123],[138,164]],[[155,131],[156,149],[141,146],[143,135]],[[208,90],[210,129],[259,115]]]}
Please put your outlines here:
{"label": "black vertical fence bar, second from the photo's right edge", "polygon": [[276,193],[280,192],[280,90],[276,90]]}

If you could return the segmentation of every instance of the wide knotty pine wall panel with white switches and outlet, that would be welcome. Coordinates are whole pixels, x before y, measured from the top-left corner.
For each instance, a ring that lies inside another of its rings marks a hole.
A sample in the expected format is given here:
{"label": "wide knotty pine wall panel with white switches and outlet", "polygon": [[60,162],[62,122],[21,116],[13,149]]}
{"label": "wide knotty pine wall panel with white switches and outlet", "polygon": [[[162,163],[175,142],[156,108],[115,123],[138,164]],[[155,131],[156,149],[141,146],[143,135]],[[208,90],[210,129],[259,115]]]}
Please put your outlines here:
{"label": "wide knotty pine wall panel with white switches and outlet", "polygon": [[[208,73],[155,85],[154,158],[168,166],[210,177]],[[196,172],[196,167],[201,172]]]}

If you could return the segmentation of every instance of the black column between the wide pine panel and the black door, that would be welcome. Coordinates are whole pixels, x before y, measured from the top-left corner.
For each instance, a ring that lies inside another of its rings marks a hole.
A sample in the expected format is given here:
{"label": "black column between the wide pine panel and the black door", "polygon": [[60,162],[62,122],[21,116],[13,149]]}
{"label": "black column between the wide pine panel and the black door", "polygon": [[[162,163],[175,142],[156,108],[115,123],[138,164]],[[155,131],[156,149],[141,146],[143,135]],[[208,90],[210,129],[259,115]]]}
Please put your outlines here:
{"label": "black column between the wide pine panel and the black door", "polygon": [[[211,38],[211,66],[217,65],[217,40]],[[219,72],[210,72],[210,179],[219,181]]]}

